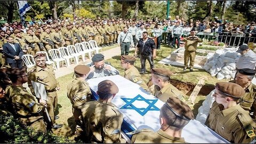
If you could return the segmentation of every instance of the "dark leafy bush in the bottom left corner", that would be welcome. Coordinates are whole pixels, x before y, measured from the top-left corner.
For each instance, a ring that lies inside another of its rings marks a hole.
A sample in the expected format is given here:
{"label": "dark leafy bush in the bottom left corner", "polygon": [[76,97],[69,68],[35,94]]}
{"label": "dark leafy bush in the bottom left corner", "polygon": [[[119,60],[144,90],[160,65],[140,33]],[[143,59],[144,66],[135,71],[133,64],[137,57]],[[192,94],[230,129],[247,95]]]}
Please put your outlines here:
{"label": "dark leafy bush in the bottom left corner", "polygon": [[36,132],[9,114],[1,115],[0,123],[0,143],[75,143],[51,132]]}

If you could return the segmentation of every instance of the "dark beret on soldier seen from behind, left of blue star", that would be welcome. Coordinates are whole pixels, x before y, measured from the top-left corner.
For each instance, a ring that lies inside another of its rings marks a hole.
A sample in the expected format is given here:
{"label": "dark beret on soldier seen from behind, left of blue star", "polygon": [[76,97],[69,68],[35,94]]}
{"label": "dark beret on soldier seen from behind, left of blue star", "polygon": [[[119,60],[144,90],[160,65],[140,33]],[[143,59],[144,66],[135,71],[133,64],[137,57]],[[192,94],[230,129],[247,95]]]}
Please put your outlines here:
{"label": "dark beret on soldier seen from behind, left of blue star", "polygon": [[105,94],[116,94],[118,93],[118,87],[112,81],[105,80],[98,84],[98,91]]}

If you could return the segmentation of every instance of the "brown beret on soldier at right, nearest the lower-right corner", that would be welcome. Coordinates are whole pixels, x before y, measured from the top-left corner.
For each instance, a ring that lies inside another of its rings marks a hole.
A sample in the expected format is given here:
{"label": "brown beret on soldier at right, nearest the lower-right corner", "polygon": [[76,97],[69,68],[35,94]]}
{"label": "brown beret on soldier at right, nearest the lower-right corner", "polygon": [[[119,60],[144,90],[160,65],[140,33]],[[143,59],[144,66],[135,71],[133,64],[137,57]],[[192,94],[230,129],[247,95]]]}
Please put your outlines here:
{"label": "brown beret on soldier at right, nearest the lower-right corner", "polygon": [[218,82],[216,83],[215,88],[222,93],[234,98],[242,98],[245,94],[243,87],[235,83]]}

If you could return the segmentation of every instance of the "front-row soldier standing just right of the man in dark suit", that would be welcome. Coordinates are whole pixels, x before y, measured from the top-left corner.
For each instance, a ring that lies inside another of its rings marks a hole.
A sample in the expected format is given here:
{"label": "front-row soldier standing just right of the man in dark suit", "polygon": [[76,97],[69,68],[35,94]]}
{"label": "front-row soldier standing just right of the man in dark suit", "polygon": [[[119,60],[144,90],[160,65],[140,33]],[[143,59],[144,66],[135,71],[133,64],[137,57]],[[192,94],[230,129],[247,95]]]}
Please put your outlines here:
{"label": "front-row soldier standing just right of the man in dark suit", "polygon": [[34,31],[32,29],[27,30],[27,35],[24,36],[24,40],[28,45],[27,54],[35,55],[36,52],[39,52],[38,43],[41,41],[34,35]]}

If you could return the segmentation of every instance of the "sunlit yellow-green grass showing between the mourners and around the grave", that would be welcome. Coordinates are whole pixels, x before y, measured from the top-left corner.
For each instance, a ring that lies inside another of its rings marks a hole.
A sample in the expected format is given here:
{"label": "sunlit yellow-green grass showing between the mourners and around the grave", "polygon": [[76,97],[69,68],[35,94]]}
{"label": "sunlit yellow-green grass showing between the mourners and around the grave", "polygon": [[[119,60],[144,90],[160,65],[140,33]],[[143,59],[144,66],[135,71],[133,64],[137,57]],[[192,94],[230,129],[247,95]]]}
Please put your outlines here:
{"label": "sunlit yellow-green grass showing between the mourners and around the grave", "polygon": [[[112,49],[116,46],[117,45],[103,47],[103,51]],[[169,65],[163,65],[161,63],[158,63],[158,61],[170,55],[172,51],[173,49],[170,49],[167,45],[163,44],[161,46],[161,49],[157,51],[157,58],[154,60],[156,68],[166,68],[177,73],[177,75],[172,76],[172,79],[177,79],[182,82],[190,82],[190,83],[196,84],[198,82],[198,80],[196,79],[197,77],[205,76],[208,78],[208,80],[205,81],[206,85],[213,86],[215,85],[216,82],[219,82],[217,78],[211,77],[211,75],[207,73],[205,70],[194,69],[193,72],[189,72],[189,70],[182,71],[183,67],[169,66]],[[131,51],[130,55],[133,55],[133,53],[134,51]],[[111,65],[113,65],[116,69],[118,69],[122,76],[124,75],[124,69],[121,67],[119,55],[114,56],[112,57],[112,59],[108,59],[107,61],[109,61]],[[139,58],[137,58],[136,60],[135,67],[137,67],[139,71],[141,70]],[[150,77],[150,66],[148,61],[146,61],[146,69],[147,69],[147,73],[142,75],[142,78],[147,83]],[[75,131],[75,121],[71,111],[71,103],[67,97],[67,85],[72,81],[72,79],[73,79],[73,74],[68,74],[57,79],[61,87],[60,91],[58,91],[58,99],[59,99],[58,113],[60,118],[57,119],[57,123],[64,124],[64,126],[61,129],[54,131],[54,133],[56,132],[56,133],[60,133],[61,135],[66,135],[71,139],[74,138],[73,133]],[[228,80],[223,80],[223,81],[228,81]],[[189,96],[190,93],[187,93],[187,95]],[[193,109],[195,117],[197,114],[197,109],[202,105],[202,102],[204,99],[205,99],[205,95],[198,95],[196,98],[196,104],[194,106],[191,106],[191,109]]]}

